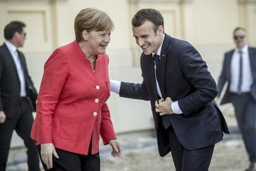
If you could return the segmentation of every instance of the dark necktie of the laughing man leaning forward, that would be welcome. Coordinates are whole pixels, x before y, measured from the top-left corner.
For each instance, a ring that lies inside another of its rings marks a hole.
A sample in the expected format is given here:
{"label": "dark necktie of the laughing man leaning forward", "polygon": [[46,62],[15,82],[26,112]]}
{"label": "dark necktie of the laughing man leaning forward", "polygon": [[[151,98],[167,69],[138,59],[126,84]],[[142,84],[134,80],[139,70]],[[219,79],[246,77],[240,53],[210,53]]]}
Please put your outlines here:
{"label": "dark necktie of the laughing man leaning forward", "polygon": [[[163,94],[163,91],[161,89],[161,87],[163,87],[163,85],[162,85],[162,82],[161,82],[161,74],[160,74],[160,68],[161,68],[160,67],[160,56],[155,54],[154,55],[154,60],[155,60],[155,63],[156,63],[156,79],[158,81],[160,91]],[[164,98],[164,97],[162,97],[162,98]],[[163,116],[163,126],[164,126],[165,129],[168,129],[168,127],[171,125],[171,121],[170,121],[169,117],[170,117],[169,115],[164,115]]]}

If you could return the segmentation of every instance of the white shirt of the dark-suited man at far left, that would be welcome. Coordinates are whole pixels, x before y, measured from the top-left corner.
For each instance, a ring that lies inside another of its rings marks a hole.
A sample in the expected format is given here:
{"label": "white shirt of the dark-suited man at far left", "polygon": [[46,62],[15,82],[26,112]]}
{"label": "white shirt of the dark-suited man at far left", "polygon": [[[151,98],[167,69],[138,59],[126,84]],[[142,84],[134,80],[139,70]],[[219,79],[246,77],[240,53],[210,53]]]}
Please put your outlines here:
{"label": "white shirt of the dark-suited man at far left", "polygon": [[12,58],[14,60],[14,63],[16,65],[16,68],[17,68],[17,73],[18,73],[19,80],[20,80],[20,96],[25,97],[27,94],[26,90],[25,90],[25,77],[24,77],[24,73],[23,73],[23,68],[20,65],[20,58],[19,58],[19,55],[17,52],[17,47],[15,47],[11,42],[9,42],[7,40],[4,43],[6,44],[7,48],[9,49],[9,51],[12,55]]}

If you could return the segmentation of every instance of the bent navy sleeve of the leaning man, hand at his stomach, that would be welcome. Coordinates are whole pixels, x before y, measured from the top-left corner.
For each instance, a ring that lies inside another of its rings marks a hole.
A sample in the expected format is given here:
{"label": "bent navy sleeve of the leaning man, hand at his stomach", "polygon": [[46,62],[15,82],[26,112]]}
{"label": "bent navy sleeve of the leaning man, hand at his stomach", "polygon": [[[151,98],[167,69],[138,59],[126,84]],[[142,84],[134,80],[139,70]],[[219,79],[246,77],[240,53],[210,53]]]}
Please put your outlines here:
{"label": "bent navy sleeve of the leaning man, hand at his stomach", "polygon": [[188,116],[212,101],[218,91],[207,64],[193,46],[184,47],[178,60],[185,78],[194,87],[189,95],[178,100],[182,113]]}

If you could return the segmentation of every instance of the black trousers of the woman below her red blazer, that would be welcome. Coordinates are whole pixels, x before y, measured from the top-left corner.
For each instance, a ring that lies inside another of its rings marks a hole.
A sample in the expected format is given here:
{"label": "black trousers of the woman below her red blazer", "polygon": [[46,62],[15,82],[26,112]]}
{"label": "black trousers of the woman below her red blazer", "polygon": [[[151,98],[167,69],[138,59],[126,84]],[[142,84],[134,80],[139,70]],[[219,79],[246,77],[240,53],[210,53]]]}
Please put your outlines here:
{"label": "black trousers of the woman below her red blazer", "polygon": [[[40,153],[40,145],[37,146]],[[55,148],[59,159],[53,156],[53,168],[47,169],[46,164],[41,160],[43,169],[54,171],[100,171],[100,154],[91,154],[91,146],[87,156],[71,153],[62,149]],[[41,153],[40,153],[41,159]]]}

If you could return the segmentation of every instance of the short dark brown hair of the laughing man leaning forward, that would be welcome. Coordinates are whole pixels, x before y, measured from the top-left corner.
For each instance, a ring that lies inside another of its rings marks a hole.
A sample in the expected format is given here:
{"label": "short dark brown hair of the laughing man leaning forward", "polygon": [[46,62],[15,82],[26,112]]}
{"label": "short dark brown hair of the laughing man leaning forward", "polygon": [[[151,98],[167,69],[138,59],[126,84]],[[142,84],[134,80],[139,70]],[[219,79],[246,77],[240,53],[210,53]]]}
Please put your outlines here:
{"label": "short dark brown hair of the laughing man leaning forward", "polygon": [[163,16],[155,9],[141,9],[132,18],[132,26],[138,27],[146,21],[150,21],[155,25],[154,31],[158,30],[159,26],[164,26]]}

